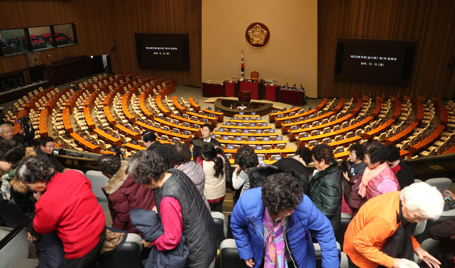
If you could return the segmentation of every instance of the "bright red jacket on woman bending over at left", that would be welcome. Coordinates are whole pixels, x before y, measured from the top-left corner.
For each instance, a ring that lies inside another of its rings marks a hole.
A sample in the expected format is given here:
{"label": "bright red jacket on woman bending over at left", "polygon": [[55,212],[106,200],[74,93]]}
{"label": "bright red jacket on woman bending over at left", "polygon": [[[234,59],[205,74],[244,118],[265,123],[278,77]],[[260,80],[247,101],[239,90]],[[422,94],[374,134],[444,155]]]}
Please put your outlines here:
{"label": "bright red jacket on woman bending over at left", "polygon": [[92,184],[78,171],[55,174],[35,209],[35,231],[48,234],[56,230],[67,259],[77,259],[91,251],[105,229],[106,217],[92,192]]}

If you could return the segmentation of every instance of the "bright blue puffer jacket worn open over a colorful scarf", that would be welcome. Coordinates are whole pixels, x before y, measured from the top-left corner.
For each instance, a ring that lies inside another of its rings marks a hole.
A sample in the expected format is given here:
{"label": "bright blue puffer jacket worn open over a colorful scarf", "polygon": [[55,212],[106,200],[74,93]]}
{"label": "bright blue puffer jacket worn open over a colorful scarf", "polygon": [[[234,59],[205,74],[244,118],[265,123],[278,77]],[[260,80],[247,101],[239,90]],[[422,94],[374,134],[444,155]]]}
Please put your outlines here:
{"label": "bright blue puffer jacket worn open over a colorful scarf", "polygon": [[[264,259],[264,209],[261,189],[254,188],[242,195],[234,206],[231,228],[236,240],[239,256],[247,260],[253,258],[257,268]],[[322,267],[340,267],[338,249],[330,221],[320,212],[309,197],[304,195],[303,201],[288,217],[286,230],[286,250],[291,251],[295,267],[315,268],[315,248],[309,229],[315,235],[322,251]],[[292,263],[292,261],[291,261]]]}

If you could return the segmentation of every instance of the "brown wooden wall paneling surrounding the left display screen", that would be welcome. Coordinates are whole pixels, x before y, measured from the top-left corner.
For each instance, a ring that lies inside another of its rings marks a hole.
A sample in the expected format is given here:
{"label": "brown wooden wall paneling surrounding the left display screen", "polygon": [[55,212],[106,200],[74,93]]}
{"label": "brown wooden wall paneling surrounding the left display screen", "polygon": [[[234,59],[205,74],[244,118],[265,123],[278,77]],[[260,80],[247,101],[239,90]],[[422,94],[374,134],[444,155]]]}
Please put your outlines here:
{"label": "brown wooden wall paneling surrounding the left display screen", "polygon": [[[128,70],[167,80],[175,79],[178,84],[201,86],[201,0],[132,0],[128,5],[123,1],[113,1],[112,14],[116,18],[113,28],[118,43],[117,50],[111,53],[114,70]],[[134,33],[188,33],[190,70],[138,67]]]}

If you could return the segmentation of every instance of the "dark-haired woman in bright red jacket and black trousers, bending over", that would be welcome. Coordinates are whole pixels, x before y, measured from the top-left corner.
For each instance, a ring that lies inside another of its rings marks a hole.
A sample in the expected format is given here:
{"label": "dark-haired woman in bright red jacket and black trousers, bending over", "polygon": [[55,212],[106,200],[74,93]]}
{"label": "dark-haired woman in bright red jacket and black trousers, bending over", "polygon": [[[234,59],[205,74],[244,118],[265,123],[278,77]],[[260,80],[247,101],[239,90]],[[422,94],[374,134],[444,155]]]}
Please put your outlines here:
{"label": "dark-haired woman in bright red jacket and black trousers, bending over", "polygon": [[39,234],[54,230],[63,242],[64,267],[92,267],[105,240],[106,217],[81,173],[58,173],[42,156],[27,157],[18,179],[35,191],[33,228]]}

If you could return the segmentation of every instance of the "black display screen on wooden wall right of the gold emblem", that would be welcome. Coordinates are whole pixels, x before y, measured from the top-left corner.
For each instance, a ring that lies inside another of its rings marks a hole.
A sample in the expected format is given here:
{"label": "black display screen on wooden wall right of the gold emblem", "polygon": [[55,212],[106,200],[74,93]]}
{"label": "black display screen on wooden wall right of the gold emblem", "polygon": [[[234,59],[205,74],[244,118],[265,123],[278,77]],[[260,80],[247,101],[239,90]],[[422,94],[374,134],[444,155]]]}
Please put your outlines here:
{"label": "black display screen on wooden wall right of the gold emblem", "polygon": [[335,79],[407,84],[416,41],[338,38]]}

